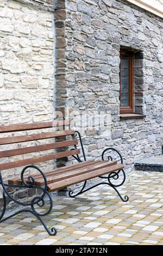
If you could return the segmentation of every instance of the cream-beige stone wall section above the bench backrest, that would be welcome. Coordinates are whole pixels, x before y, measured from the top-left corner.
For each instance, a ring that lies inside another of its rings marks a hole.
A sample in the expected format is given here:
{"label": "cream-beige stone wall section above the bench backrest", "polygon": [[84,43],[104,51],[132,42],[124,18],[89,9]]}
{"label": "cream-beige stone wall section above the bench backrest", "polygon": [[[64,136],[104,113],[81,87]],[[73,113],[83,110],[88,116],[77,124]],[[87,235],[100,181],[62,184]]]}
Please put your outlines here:
{"label": "cream-beige stone wall section above the bench backrest", "polygon": [[52,119],[52,11],[0,0],[0,119],[2,124]]}

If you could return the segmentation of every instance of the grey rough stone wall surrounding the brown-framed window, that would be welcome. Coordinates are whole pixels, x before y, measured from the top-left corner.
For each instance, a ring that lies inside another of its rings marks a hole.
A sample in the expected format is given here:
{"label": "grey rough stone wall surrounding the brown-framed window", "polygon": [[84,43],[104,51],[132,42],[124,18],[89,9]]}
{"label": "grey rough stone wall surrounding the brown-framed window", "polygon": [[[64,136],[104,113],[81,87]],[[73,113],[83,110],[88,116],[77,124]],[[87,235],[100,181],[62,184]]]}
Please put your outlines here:
{"label": "grey rough stone wall surrounding the brown-framed window", "polygon": [[[111,113],[111,135],[89,127],[82,134],[86,155],[114,146],[133,169],[134,160],[161,154],[162,19],[118,0],[58,1],[56,12],[57,108]],[[120,119],[120,47],[137,52],[135,109],[144,119]]]}

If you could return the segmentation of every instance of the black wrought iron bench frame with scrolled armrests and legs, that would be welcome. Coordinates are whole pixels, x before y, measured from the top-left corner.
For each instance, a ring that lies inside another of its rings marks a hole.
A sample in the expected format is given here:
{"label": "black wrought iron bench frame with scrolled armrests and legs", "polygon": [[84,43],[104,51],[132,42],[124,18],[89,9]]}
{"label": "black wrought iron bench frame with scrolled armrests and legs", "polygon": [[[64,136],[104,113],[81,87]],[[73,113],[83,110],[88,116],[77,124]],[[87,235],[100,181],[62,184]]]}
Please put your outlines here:
{"label": "black wrought iron bench frame with scrolled armrests and legs", "polygon": [[[83,142],[82,142],[80,132],[76,131],[76,133],[72,137],[73,138],[77,138],[77,137],[79,138],[80,145],[81,145],[81,148],[82,148],[82,153],[83,153],[83,159],[84,159],[84,161],[86,161],[84,146],[83,146]],[[76,145],[74,145],[74,149],[77,149]],[[110,150],[113,151],[114,153],[116,153],[118,157],[120,157],[121,163],[123,164],[123,159],[122,159],[121,154],[114,148],[105,149],[102,153],[102,160],[104,161],[106,153]],[[72,155],[72,156],[79,163],[83,162],[83,160],[81,160],[81,158],[78,154],[77,155]],[[109,155],[107,157],[108,157],[108,161],[113,160],[113,157],[111,155]],[[43,180],[45,182],[44,186],[35,186],[35,179],[33,178],[32,175],[28,176],[28,182],[26,181],[26,179],[24,179],[24,173],[26,172],[26,170],[28,168],[33,168],[42,175]],[[122,181],[120,182],[120,184],[114,184],[113,180],[118,180],[120,178],[120,176],[122,177]],[[121,200],[123,202],[128,202],[129,197],[124,196],[124,198],[123,198],[121,196],[120,192],[118,192],[118,190],[117,190],[117,188],[122,186],[124,184],[124,182],[126,181],[126,173],[124,172],[123,169],[118,170],[117,172],[111,172],[111,173],[109,173],[108,176],[99,176],[99,178],[104,179],[105,181],[99,182],[96,185],[92,185],[91,187],[86,188],[86,185],[87,185],[87,180],[86,180],[86,181],[84,181],[84,185],[80,189],[79,192],[74,193],[73,191],[69,191],[69,193],[68,193],[69,196],[74,198],[74,197],[77,197],[80,194],[85,193],[86,191],[89,191],[92,188],[95,188],[99,185],[108,185],[108,186],[114,188],[114,190],[117,192],[118,196],[121,198]],[[42,172],[42,170],[40,168],[38,168],[37,166],[35,166],[33,164],[30,164],[30,165],[28,165],[28,166],[26,166],[22,169],[22,171],[21,171],[21,181],[22,181],[22,185],[9,185],[9,184],[7,184],[6,182],[3,181],[2,172],[0,171],[0,185],[2,186],[2,189],[3,189],[2,194],[3,194],[3,202],[4,202],[2,212],[0,213],[0,223],[2,223],[4,221],[7,221],[7,220],[9,220],[9,218],[12,218],[12,217],[14,217],[18,214],[23,213],[23,212],[28,212],[28,213],[34,215],[41,222],[41,224],[46,229],[46,231],[49,235],[56,235],[57,234],[57,229],[55,229],[54,227],[49,229],[47,227],[47,225],[45,224],[45,222],[43,222],[43,220],[42,220],[42,217],[48,215],[52,211],[52,208],[53,208],[53,200],[52,200],[52,197],[51,197],[50,193],[48,192],[48,183],[47,183],[46,175]],[[15,199],[14,197],[12,197],[11,194],[8,192],[8,188],[35,188],[37,190],[38,189],[41,190],[42,195],[41,196],[35,196],[32,199],[32,202],[30,202],[30,203],[23,203],[23,202],[20,202],[19,200]],[[29,206],[30,208],[25,208],[25,209],[18,210],[14,214],[11,214],[10,216],[7,216],[7,217],[3,218],[4,214],[5,214],[5,211],[7,210],[7,198],[6,197],[8,197],[11,201],[17,203],[18,205],[25,206],[25,207]],[[40,212],[38,212],[35,209],[35,205],[37,205],[39,207],[44,206],[45,205],[45,197],[48,197],[48,199],[49,199],[49,209],[44,214],[41,214]]]}

